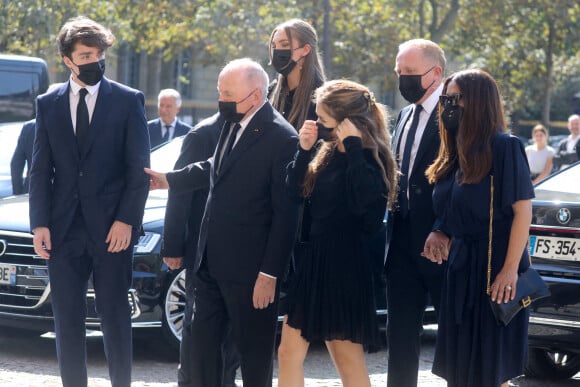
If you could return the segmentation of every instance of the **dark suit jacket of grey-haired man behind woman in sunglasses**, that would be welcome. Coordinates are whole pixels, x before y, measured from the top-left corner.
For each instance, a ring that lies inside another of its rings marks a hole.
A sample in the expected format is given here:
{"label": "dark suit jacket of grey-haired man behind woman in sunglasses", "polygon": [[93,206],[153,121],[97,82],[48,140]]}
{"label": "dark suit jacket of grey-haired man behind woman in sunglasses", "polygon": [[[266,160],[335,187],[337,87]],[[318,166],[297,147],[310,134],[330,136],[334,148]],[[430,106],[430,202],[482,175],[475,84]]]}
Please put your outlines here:
{"label": "dark suit jacket of grey-haired man behind woman in sunglasses", "polygon": [[[409,105],[403,108],[397,117],[397,123],[392,142],[393,154],[396,156],[398,156],[397,149],[399,149],[401,134],[404,131],[405,124],[408,120],[412,119],[411,113],[413,111],[413,106],[414,105]],[[427,181],[425,170],[427,167],[433,164],[433,161],[437,157],[440,142],[441,140],[439,138],[437,108],[435,108],[433,109],[433,112],[429,117],[429,121],[425,126],[425,131],[421,137],[417,155],[415,156],[415,161],[413,162],[413,169],[409,175],[408,190],[410,211],[408,218],[413,230],[413,244],[410,246],[410,248],[417,255],[423,251],[425,240],[427,239],[429,233],[439,228],[436,222],[435,213],[433,211],[433,202],[431,198],[433,193],[433,185],[429,184]],[[387,220],[386,244],[387,261],[389,259],[389,255],[394,253],[389,249],[389,242],[391,240],[393,228],[397,227],[397,218],[398,216],[396,209],[395,211],[389,212],[389,217]]]}

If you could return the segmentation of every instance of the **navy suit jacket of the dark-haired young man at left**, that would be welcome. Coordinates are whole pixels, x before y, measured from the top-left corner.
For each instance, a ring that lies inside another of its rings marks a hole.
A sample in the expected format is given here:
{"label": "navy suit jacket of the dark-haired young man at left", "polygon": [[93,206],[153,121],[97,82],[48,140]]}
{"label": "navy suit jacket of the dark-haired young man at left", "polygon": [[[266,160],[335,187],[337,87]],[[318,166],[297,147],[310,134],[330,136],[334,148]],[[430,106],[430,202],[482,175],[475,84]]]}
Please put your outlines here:
{"label": "navy suit jacket of the dark-haired young man at left", "polygon": [[[69,81],[70,82],[70,81]],[[73,131],[66,82],[37,99],[30,171],[30,227],[48,227],[53,250],[80,207],[96,246],[115,220],[141,227],[149,179],[149,136],[143,93],[101,80],[83,149]]]}

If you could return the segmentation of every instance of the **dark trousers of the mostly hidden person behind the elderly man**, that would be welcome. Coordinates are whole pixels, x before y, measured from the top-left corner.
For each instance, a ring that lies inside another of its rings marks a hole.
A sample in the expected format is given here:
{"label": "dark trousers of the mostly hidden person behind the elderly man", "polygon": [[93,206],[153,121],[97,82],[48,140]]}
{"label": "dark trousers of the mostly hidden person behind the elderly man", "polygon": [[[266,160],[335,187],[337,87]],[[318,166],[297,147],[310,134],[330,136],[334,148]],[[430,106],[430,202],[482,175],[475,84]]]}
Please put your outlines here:
{"label": "dark trousers of the mostly hidden person behind the elderly man", "polygon": [[[191,379],[192,354],[196,351],[193,344],[191,332],[194,314],[194,278],[195,273],[192,268],[185,269],[185,317],[181,334],[181,345],[179,354],[179,370],[177,372],[177,382],[180,387],[194,387]],[[222,347],[223,364],[223,384],[222,387],[235,387],[236,371],[240,366],[240,356],[234,343],[231,327],[228,327],[225,342]]]}

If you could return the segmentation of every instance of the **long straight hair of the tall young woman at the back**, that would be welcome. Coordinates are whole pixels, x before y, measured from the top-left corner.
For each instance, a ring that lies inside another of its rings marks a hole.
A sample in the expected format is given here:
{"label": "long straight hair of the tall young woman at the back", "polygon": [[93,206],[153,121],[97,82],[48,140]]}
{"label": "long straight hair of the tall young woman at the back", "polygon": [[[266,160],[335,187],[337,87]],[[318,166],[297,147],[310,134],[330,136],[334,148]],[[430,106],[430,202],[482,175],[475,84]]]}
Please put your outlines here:
{"label": "long straight hair of the tall young woman at the back", "polygon": [[[274,28],[274,31],[272,31],[272,34],[270,35],[270,60],[272,60],[272,40],[274,39],[274,34],[282,29],[286,32],[292,50],[298,48],[293,47],[292,38],[298,40],[299,47],[302,47],[305,44],[310,46],[310,53],[304,57],[304,62],[302,63],[300,81],[294,93],[292,109],[287,115],[288,122],[290,122],[296,130],[299,130],[307,119],[314,90],[324,83],[324,70],[322,68],[320,53],[318,52],[318,36],[316,30],[310,24],[300,19],[290,19]],[[286,77],[278,75],[278,82],[270,95],[270,103],[274,106],[274,109],[279,112],[284,110],[286,97],[289,93],[290,88],[288,87]]]}

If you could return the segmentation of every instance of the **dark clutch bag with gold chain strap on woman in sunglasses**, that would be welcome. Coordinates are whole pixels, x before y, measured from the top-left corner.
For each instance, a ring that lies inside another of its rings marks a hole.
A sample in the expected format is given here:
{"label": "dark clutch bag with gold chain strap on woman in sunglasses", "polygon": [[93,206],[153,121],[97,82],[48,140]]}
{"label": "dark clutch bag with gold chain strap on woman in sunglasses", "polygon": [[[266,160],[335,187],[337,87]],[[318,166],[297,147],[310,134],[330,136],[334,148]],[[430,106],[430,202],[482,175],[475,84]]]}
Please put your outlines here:
{"label": "dark clutch bag with gold chain strap on woman in sunglasses", "polygon": [[[493,237],[493,175],[491,176],[491,199],[489,204],[489,244],[487,249],[487,294],[491,294],[491,242]],[[508,303],[497,303],[489,298],[491,310],[495,316],[498,324],[504,326],[508,325],[514,316],[524,308],[527,308],[532,302],[540,298],[548,297],[550,291],[546,283],[540,277],[538,272],[531,267],[532,261],[530,258],[530,267],[518,277],[516,283],[516,296]]]}

